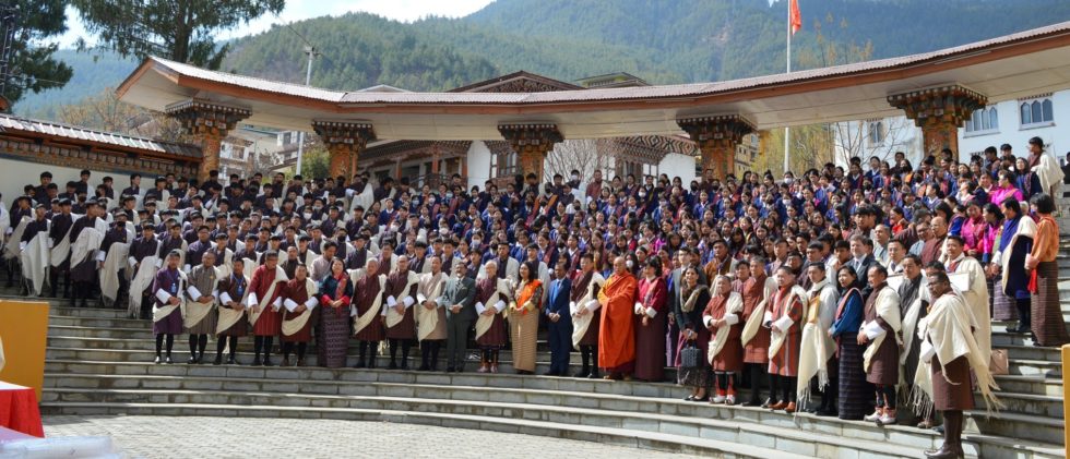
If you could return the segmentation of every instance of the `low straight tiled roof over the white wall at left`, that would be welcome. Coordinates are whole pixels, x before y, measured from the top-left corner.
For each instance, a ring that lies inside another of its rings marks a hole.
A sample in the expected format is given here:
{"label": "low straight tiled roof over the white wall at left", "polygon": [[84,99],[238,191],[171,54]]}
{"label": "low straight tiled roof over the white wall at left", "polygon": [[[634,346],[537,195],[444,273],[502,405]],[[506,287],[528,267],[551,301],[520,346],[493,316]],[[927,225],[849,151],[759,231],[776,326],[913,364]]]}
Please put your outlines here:
{"label": "low straight tiled roof over the white wall at left", "polygon": [[40,121],[13,114],[0,113],[0,129],[4,131],[22,131],[27,133],[46,134],[54,137],[70,138],[75,142],[95,142],[114,145],[121,148],[163,155],[200,158],[201,149],[188,144],[160,142],[152,138],[133,137],[112,132],[94,131],[91,129],[61,124],[52,121]]}

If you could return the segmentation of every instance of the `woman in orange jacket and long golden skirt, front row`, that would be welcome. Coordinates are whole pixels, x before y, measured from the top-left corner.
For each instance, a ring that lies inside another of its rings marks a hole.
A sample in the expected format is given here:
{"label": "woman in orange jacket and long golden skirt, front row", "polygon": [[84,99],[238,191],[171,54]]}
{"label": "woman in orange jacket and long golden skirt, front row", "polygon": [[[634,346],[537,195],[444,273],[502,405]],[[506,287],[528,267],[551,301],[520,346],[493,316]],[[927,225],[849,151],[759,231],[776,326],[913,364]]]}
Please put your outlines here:
{"label": "woman in orange jacket and long golden skirt, front row", "polygon": [[543,281],[538,267],[532,262],[520,265],[516,299],[509,307],[509,327],[513,342],[513,369],[518,374],[535,373],[535,345],[538,339],[538,316],[543,310]]}

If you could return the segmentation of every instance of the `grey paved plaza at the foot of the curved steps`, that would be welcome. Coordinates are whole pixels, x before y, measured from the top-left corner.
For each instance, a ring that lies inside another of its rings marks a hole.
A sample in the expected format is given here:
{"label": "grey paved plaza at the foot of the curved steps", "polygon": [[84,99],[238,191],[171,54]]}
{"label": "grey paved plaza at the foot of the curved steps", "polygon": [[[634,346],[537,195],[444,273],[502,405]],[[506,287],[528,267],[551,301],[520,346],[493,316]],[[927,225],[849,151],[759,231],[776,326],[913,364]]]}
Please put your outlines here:
{"label": "grey paved plaza at the foot of the curved steps", "polygon": [[72,415],[44,421],[48,437],[110,435],[131,458],[685,457],[591,442],[383,422]]}

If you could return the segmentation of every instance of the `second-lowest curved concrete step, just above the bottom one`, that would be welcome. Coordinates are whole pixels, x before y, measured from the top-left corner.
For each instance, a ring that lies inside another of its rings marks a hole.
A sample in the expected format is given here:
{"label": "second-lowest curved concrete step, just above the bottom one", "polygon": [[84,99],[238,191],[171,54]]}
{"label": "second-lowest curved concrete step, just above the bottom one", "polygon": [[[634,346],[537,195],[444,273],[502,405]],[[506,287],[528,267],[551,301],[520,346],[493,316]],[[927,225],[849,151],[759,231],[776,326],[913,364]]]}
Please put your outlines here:
{"label": "second-lowest curved concrete step, just above the bottom one", "polygon": [[[918,457],[918,445],[906,446],[890,443],[891,435],[879,432],[879,428],[848,428],[852,435],[832,434],[817,430],[800,430],[797,423],[787,414],[771,414],[752,410],[752,414],[761,418],[759,423],[740,419],[724,419],[716,416],[715,407],[708,403],[671,402],[683,408],[683,412],[638,412],[630,411],[644,400],[616,400],[603,397],[594,406],[566,404],[569,399],[578,397],[561,397],[554,394],[502,392],[495,390],[478,394],[490,397],[490,400],[463,399],[450,397],[455,391],[447,391],[443,397],[425,396],[427,390],[441,388],[394,387],[397,396],[326,396],[326,395],[269,395],[248,394],[245,391],[159,391],[159,390],[50,390],[46,403],[153,403],[166,406],[215,404],[215,406],[273,406],[295,407],[309,410],[320,408],[357,409],[357,410],[391,410],[406,412],[435,412],[442,414],[467,414],[479,416],[522,416],[525,420],[552,422],[562,425],[584,424],[609,428],[634,428],[647,432],[704,436],[726,442],[745,443],[752,446],[775,448],[783,452],[804,455],[807,457],[843,457],[854,456],[875,457]],[[477,388],[465,388],[475,390]],[[465,390],[463,389],[463,390]],[[602,408],[609,404],[611,408]],[[700,410],[693,410],[699,408]],[[709,408],[710,410],[705,410]],[[701,415],[696,411],[709,411]],[[849,427],[854,427],[851,425]],[[866,431],[866,432],[863,432]],[[869,432],[873,431],[873,432]],[[904,430],[905,431],[905,430]],[[939,444],[940,440],[931,433],[911,438],[925,445]],[[849,438],[849,440],[847,440]],[[880,439],[878,439],[880,438]],[[845,442],[846,440],[846,442]],[[868,445],[868,446],[867,446]],[[930,447],[930,446],[925,446]]]}

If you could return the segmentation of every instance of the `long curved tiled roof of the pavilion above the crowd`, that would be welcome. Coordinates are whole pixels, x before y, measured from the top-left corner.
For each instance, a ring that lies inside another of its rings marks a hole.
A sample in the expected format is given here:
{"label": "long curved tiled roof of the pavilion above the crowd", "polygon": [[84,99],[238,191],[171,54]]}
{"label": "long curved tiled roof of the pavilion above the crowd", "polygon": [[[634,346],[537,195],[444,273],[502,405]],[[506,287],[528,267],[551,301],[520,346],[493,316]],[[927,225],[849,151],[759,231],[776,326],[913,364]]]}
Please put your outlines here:
{"label": "long curved tiled roof of the pavilion above the crowd", "polygon": [[[155,63],[182,76],[194,77],[216,83],[236,85],[264,93],[305,97],[335,104],[394,104],[394,105],[544,105],[560,102],[598,102],[637,99],[658,99],[677,97],[697,97],[762,87],[788,86],[811,80],[846,77],[866,72],[903,69],[914,65],[939,62],[948,59],[959,59],[975,52],[985,52],[1002,45],[1032,38],[1060,34],[1070,31],[1070,22],[1063,22],[1045,27],[1038,27],[1016,34],[1006,35],[988,40],[976,41],[953,48],[918,55],[881,59],[823,69],[804,70],[786,74],[758,76],[727,82],[692,83],[677,85],[658,85],[643,87],[621,87],[586,90],[556,90],[546,93],[371,93],[371,92],[338,92],[321,89],[292,83],[274,82],[251,76],[214,72],[193,65],[173,62],[159,58],[150,58]],[[463,88],[462,88],[463,89]]]}

